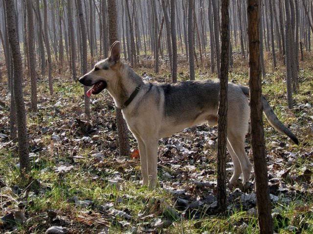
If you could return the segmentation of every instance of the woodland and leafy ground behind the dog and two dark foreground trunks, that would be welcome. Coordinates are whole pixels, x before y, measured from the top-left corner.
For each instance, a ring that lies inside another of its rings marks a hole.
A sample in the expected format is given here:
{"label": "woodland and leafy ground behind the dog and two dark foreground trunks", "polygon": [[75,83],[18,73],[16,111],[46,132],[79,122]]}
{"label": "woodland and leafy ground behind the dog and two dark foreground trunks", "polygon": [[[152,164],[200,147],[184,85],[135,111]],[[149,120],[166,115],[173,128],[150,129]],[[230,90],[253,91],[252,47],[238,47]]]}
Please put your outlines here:
{"label": "woodland and leafy ground behind the dog and two dark foreground trunks", "polygon": [[[0,232],[259,231],[254,174],[248,191],[227,188],[226,213],[214,212],[217,128],[160,140],[159,187],[149,190],[120,110],[106,91],[89,99],[77,82],[116,40],[147,81],[221,78],[222,2],[0,1]],[[229,0],[228,11],[228,80],[243,85],[248,2]],[[312,233],[313,0],[259,3],[263,94],[300,140],[264,121],[274,231]],[[252,161],[250,145],[247,137]]]}

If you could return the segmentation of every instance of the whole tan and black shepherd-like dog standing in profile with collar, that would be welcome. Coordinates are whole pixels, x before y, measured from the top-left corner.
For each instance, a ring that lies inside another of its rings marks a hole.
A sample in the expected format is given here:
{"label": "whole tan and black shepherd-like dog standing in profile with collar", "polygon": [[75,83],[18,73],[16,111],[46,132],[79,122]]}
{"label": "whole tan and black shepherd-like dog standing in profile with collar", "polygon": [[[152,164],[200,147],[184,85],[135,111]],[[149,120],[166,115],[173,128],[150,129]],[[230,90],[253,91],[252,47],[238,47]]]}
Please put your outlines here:
{"label": "whole tan and black shepherd-like dog standing in profile with collar", "polygon": [[[160,138],[203,123],[210,126],[218,123],[219,81],[145,82],[120,60],[120,42],[113,43],[109,57],[96,63],[79,82],[92,86],[86,93],[88,96],[99,94],[106,88],[116,107],[122,109],[126,123],[138,142],[144,186],[156,186]],[[244,144],[250,113],[249,89],[228,83],[227,95],[227,149],[234,165],[229,183],[236,185],[242,174],[245,186],[252,169]],[[276,117],[264,96],[262,104],[270,125],[299,144],[298,139]]]}

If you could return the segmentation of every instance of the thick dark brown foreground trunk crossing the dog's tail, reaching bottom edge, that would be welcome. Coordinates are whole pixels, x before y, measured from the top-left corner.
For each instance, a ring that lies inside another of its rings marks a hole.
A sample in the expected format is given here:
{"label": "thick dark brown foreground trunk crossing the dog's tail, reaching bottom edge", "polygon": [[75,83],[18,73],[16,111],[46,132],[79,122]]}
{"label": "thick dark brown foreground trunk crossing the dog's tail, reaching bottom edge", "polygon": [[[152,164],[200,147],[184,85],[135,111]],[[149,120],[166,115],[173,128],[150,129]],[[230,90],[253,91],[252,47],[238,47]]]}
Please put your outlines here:
{"label": "thick dark brown foreground trunk crossing the dog's tail, reaching bottom edge", "polygon": [[251,138],[256,182],[256,197],[260,233],[273,233],[271,219],[268,168],[264,144],[262,86],[260,72],[260,0],[248,0],[249,86],[251,108]]}

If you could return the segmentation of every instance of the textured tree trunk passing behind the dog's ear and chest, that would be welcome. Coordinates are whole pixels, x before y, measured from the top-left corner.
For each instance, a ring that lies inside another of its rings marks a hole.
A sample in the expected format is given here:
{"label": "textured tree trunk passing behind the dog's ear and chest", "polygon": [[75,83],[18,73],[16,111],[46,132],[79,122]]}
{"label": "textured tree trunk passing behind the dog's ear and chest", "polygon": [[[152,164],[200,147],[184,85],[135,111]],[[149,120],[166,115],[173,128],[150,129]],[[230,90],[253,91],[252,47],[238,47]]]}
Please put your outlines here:
{"label": "textured tree trunk passing behind the dog's ear and chest", "polygon": [[[112,45],[118,40],[117,37],[117,11],[116,11],[116,1],[108,0],[108,18],[109,18],[109,44]],[[128,138],[128,128],[126,122],[122,116],[120,108],[115,108],[116,111],[116,124],[118,132],[118,143],[119,143],[119,154],[121,156],[130,155],[129,138]]]}

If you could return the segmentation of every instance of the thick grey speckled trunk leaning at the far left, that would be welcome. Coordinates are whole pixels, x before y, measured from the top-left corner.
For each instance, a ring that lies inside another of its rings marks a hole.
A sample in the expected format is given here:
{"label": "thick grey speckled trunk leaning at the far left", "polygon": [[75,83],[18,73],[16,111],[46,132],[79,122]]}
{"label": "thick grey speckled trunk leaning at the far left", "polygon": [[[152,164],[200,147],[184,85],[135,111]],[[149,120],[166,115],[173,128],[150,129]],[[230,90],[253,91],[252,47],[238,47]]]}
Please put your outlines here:
{"label": "thick grey speckled trunk leaning at the far left", "polygon": [[26,127],[26,113],[22,90],[23,68],[20,43],[18,40],[18,30],[15,17],[15,7],[12,0],[5,0],[6,28],[8,32],[10,50],[14,64],[14,98],[16,105],[17,125],[18,125],[18,143],[21,174],[30,170],[28,135]]}

